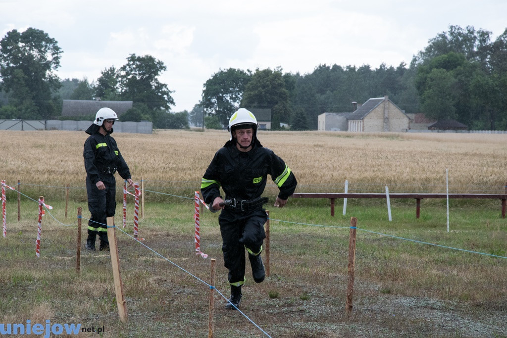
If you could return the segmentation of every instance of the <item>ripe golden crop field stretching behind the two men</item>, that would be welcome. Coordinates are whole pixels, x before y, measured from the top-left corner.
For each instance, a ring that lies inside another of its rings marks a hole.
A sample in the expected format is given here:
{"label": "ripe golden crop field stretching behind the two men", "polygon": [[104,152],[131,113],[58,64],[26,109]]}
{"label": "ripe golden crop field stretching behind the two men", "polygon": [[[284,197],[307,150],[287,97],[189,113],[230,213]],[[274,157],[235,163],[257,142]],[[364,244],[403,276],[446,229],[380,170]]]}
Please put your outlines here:
{"label": "ripe golden crop field stretching behind the two men", "polygon": [[[83,131],[0,131],[0,178],[7,184],[19,179],[84,186],[87,136]],[[134,180],[191,182],[200,182],[215,151],[229,138],[227,131],[216,130],[113,136]],[[404,191],[442,192],[446,169],[452,192],[501,193],[507,182],[503,134],[260,131],[258,136],[293,170],[298,192],[337,192],[345,180],[366,189],[388,184]]]}

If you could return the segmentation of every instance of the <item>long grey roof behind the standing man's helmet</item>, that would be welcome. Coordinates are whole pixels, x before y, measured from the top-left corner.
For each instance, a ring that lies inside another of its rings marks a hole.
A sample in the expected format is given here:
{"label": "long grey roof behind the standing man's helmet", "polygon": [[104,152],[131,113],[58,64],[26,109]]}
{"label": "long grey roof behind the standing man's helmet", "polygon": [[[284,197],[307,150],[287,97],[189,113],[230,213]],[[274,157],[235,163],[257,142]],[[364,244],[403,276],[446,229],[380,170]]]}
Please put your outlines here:
{"label": "long grey roof behind the standing man's helmet", "polygon": [[63,100],[62,116],[95,115],[100,108],[111,108],[121,116],[132,108],[132,101]]}

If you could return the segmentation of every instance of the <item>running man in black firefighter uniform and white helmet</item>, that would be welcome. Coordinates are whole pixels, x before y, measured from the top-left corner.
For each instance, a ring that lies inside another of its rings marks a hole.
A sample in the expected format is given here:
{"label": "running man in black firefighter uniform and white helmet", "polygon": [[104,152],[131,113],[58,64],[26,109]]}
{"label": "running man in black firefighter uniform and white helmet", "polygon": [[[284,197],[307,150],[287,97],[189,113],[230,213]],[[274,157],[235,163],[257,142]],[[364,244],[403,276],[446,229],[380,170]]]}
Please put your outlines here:
{"label": "running man in black firefighter uniform and white helmet", "polygon": [[[287,203],[297,185],[296,177],[285,162],[259,142],[257,128],[257,119],[250,111],[245,108],[236,111],[229,120],[231,138],[215,153],[201,183],[204,202],[211,205],[211,209],[222,209],[219,216],[222,251],[231,284],[227,309],[239,307],[241,301],[245,248],[253,280],[261,283],[265,277],[260,253],[266,238],[264,223],[267,215],[263,204],[268,199],[261,195],[268,174],[280,190],[274,204],[276,207],[281,208]],[[221,186],[225,201],[220,195]]]}

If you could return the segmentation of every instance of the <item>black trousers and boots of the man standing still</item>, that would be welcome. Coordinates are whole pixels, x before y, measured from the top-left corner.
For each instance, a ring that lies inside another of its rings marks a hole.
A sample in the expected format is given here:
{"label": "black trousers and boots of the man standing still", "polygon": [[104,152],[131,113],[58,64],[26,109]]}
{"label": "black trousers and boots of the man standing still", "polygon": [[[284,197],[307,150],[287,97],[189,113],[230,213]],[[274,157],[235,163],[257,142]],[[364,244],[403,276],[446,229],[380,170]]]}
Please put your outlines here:
{"label": "black trousers and boots of the man standing still", "polygon": [[102,175],[100,180],[105,189],[99,190],[86,176],[86,193],[88,195],[88,210],[91,217],[88,221],[88,239],[95,246],[95,238],[100,238],[100,249],[109,245],[107,241],[107,217],[115,215],[116,210],[116,179],[113,175]]}

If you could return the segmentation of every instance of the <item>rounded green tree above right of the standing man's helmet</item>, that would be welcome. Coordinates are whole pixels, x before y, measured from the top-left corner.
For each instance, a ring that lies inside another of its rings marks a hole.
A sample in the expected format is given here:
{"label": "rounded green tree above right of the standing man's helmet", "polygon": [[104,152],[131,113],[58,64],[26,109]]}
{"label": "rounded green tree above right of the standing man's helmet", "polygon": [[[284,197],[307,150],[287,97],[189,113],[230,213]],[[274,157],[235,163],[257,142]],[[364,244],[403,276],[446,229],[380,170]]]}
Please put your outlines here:
{"label": "rounded green tree above right of the standing man's helmet", "polygon": [[172,91],[158,80],[167,67],[153,56],[130,54],[127,64],[119,70],[121,97],[137,103],[144,103],[152,110],[170,110],[174,105]]}

